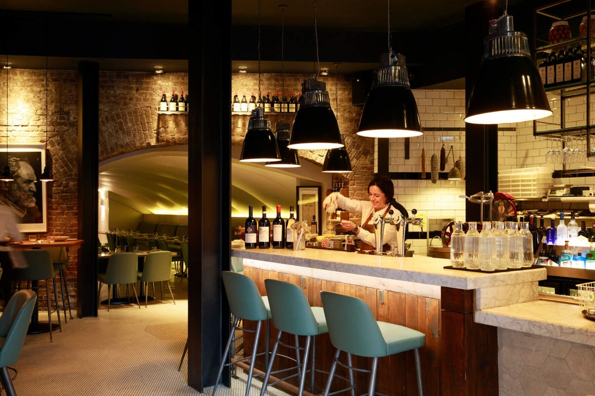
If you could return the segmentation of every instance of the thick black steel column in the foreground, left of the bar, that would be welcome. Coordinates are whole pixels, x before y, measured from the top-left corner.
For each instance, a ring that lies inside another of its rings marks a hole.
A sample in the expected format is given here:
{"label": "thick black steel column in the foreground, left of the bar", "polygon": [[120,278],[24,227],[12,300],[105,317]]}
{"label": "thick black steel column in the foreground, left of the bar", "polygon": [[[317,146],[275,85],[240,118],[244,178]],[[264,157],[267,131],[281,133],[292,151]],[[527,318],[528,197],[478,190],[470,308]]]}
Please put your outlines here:
{"label": "thick black steel column in the foreground, left of the bar", "polygon": [[[213,385],[229,331],[231,1],[189,1],[188,385]],[[229,381],[228,375],[224,382]]]}

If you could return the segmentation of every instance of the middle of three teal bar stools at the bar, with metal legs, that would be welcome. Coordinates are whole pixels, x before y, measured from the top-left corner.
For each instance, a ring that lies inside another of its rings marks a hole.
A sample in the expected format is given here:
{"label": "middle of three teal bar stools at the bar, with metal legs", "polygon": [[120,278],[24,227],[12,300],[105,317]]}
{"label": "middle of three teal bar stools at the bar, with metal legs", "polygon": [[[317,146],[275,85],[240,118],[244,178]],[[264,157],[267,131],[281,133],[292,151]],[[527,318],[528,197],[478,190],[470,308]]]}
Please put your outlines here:
{"label": "middle of three teal bar stools at the bar, with metal legs", "polygon": [[[286,381],[299,375],[299,388],[297,396],[302,396],[303,388],[306,383],[306,375],[310,372],[311,384],[310,391],[314,393],[314,373],[316,370],[315,350],[316,338],[319,334],[328,332],[327,321],[324,316],[324,310],[320,306],[310,306],[306,294],[296,284],[286,281],[265,279],[265,287],[267,288],[267,297],[271,306],[271,313],[273,314],[273,323],[279,332],[277,340],[273,347],[271,359],[268,364],[267,372],[264,377],[264,385],[262,387],[261,396],[264,396],[265,391],[269,385],[275,385],[278,382]],[[281,334],[286,332],[293,334],[295,337],[295,345],[285,344],[281,341]],[[300,347],[297,336],[303,335],[306,337],[305,346]],[[271,370],[275,356],[277,355],[277,347],[281,345],[296,351],[296,366],[278,370],[279,372],[288,372],[297,369],[297,373],[286,376],[278,381],[268,384]],[[300,353],[303,351],[303,356]],[[308,356],[312,352],[312,369],[308,370]],[[303,362],[303,363],[302,363]]]}

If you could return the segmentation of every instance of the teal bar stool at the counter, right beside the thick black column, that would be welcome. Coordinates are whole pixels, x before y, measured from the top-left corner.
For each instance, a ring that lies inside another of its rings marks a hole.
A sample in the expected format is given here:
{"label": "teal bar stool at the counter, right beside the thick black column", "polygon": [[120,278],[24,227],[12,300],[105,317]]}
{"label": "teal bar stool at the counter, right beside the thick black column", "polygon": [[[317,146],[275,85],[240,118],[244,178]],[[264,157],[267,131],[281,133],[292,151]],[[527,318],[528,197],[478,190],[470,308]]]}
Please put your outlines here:
{"label": "teal bar stool at the counter, right beside the thick black column", "polygon": [[[229,334],[229,338],[227,339],[227,345],[225,347],[225,351],[223,352],[223,357],[221,357],[221,365],[219,366],[217,379],[215,380],[215,386],[213,387],[213,392],[211,393],[211,396],[214,396],[215,391],[217,391],[223,368],[225,366],[235,365],[236,363],[240,363],[248,359],[250,360],[250,369],[248,370],[246,396],[249,396],[252,378],[260,375],[254,374],[254,365],[256,363],[256,357],[265,354],[265,356],[267,357],[266,362],[268,366],[268,334],[270,325],[269,319],[271,319],[269,301],[267,296],[260,295],[260,293],[258,292],[258,288],[256,287],[256,284],[254,283],[252,278],[249,278],[246,275],[240,273],[234,273],[233,271],[223,271],[221,276],[223,277],[223,284],[225,286],[227,300],[229,302],[229,308],[231,311],[231,315],[233,315],[233,319],[231,322],[231,332]],[[256,321],[256,330],[248,330],[246,328],[241,327],[239,325],[240,319],[242,319],[242,321]],[[265,352],[257,353],[258,339],[261,332],[262,322],[267,322],[267,343]],[[230,359],[230,346],[236,340],[236,330],[241,330],[244,332],[249,331],[254,333],[254,346],[252,347],[252,354],[250,356],[245,356],[242,359],[238,359],[235,362],[230,361],[229,363],[227,363],[229,361],[228,359]]]}

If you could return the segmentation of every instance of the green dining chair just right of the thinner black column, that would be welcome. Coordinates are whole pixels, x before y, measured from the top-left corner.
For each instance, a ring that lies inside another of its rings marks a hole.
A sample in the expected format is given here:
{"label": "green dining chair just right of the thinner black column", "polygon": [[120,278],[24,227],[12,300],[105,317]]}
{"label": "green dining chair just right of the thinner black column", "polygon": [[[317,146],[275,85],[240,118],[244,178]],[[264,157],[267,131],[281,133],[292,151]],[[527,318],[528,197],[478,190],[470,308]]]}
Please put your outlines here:
{"label": "green dining chair just right of the thinner black column", "polygon": [[101,294],[101,287],[104,284],[108,285],[108,312],[109,303],[111,300],[111,287],[114,284],[126,284],[126,297],[128,298],[128,286],[132,286],[134,298],[139,305],[139,296],[136,294],[136,280],[138,277],[138,258],[136,253],[124,252],[115,253],[109,256],[108,267],[105,274],[97,274],[99,280],[99,287],[97,289],[97,300],[99,305],[99,295]]}

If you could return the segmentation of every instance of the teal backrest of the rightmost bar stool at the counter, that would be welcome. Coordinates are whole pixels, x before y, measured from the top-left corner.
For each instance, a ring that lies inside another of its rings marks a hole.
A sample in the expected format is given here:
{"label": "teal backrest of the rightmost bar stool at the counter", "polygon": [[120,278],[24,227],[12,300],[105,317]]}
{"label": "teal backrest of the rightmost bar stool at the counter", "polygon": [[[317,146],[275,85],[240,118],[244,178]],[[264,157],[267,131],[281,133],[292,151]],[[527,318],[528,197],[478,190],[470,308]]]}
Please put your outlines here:
{"label": "teal backrest of the rightmost bar stool at the counter", "polygon": [[364,300],[324,290],[320,296],[334,347],[358,356],[386,356],[386,341]]}

